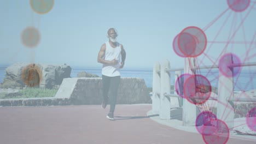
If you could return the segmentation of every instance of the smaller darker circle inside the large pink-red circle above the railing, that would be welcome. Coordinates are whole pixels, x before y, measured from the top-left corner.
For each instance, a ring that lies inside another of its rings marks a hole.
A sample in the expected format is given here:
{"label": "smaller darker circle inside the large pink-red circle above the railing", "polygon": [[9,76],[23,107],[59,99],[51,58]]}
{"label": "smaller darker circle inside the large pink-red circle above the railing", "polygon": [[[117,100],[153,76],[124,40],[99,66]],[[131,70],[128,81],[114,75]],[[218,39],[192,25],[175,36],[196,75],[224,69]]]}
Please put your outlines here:
{"label": "smaller darker circle inside the large pink-red circle above the railing", "polygon": [[184,56],[191,57],[196,50],[196,40],[193,35],[189,33],[180,33],[178,47]]}

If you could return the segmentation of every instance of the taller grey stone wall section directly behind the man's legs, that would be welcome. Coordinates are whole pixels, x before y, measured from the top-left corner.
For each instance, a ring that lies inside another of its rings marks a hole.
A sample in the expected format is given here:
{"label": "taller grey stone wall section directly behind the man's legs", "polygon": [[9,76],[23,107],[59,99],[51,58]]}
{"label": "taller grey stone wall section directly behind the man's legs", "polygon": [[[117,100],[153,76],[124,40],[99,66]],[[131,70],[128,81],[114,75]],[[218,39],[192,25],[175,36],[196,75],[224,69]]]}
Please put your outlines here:
{"label": "taller grey stone wall section directly behind the man's legs", "polygon": [[[109,92],[109,97],[110,97]],[[101,78],[79,78],[71,95],[74,104],[101,104]],[[121,78],[117,104],[151,103],[144,79]]]}

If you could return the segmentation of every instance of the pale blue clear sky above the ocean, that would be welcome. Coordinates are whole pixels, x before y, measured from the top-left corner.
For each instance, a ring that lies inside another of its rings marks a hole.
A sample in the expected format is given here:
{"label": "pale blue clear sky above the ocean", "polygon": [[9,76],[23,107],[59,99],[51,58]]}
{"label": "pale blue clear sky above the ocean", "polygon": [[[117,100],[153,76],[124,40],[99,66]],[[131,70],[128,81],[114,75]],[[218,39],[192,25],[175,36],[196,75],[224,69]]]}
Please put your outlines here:
{"label": "pale blue clear sky above the ocean", "polygon": [[[29,0],[1,0],[0,64],[66,63],[100,68],[98,51],[113,27],[126,51],[125,68],[150,69],[165,59],[171,68],[182,68],[184,58],[174,52],[173,39],[190,26],[202,29],[207,37],[206,49],[198,57],[201,64],[217,64],[224,47],[242,62],[256,62],[253,4],[255,1],[245,11],[236,12],[224,0],[55,0],[49,13],[37,14]],[[31,26],[40,33],[34,48],[21,42],[22,31]],[[247,42],[216,43],[228,40]]]}

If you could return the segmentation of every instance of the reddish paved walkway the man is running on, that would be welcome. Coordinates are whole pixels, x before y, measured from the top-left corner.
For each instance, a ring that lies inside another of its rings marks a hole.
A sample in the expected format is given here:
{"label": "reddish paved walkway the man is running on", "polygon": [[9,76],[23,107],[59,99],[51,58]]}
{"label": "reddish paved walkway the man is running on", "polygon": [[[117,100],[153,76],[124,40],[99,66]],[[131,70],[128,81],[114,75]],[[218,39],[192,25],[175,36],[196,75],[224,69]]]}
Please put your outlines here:
{"label": "reddish paved walkway the man is running on", "polygon": [[[0,143],[204,143],[196,133],[159,124],[151,105],[117,105],[115,121],[100,105],[0,107]],[[230,138],[228,143],[255,143]]]}

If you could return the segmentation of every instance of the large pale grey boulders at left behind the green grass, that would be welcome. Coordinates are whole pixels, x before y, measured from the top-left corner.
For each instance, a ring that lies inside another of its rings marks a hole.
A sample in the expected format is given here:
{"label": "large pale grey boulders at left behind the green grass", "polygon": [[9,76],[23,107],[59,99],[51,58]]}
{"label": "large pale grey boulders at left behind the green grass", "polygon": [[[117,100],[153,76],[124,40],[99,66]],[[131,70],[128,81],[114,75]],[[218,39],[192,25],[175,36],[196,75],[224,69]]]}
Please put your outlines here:
{"label": "large pale grey boulders at left behind the green grass", "polygon": [[[30,63],[14,63],[5,69],[2,88],[25,87],[21,79],[22,70]],[[70,77],[71,67],[68,65],[36,64],[42,70],[41,80],[38,87],[53,88],[61,85],[64,78]]]}

